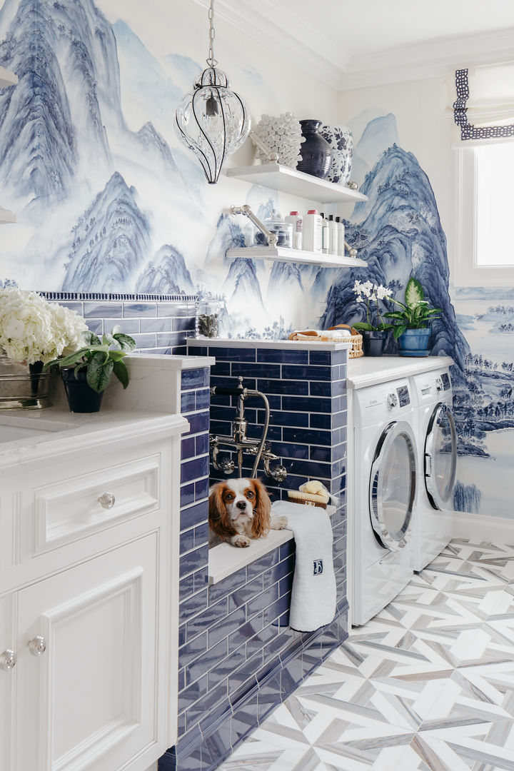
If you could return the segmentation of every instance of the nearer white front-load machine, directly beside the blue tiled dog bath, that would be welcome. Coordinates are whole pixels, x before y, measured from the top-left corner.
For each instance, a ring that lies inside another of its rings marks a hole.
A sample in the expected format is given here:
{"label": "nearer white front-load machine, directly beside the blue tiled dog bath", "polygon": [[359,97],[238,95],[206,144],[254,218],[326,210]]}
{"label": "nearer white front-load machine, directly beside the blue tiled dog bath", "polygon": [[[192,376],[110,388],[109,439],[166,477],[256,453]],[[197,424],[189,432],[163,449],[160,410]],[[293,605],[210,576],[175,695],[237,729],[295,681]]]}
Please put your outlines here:
{"label": "nearer white front-load machine, directly beside the blue tiled dog bath", "polygon": [[353,392],[351,621],[365,624],[412,577],[417,447],[408,378]]}

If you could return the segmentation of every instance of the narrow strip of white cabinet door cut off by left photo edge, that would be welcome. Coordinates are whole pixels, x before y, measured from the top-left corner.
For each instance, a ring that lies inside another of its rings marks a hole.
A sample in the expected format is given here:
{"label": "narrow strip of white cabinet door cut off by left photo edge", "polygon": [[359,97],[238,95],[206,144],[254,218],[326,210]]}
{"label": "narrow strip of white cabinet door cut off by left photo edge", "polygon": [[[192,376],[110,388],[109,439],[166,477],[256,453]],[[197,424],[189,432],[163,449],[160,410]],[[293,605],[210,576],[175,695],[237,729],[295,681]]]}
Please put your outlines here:
{"label": "narrow strip of white cabinet door cut off by left photo edge", "polygon": [[0,769],[12,769],[14,742],[14,704],[17,668],[8,651],[16,654],[12,618],[13,595],[0,597]]}

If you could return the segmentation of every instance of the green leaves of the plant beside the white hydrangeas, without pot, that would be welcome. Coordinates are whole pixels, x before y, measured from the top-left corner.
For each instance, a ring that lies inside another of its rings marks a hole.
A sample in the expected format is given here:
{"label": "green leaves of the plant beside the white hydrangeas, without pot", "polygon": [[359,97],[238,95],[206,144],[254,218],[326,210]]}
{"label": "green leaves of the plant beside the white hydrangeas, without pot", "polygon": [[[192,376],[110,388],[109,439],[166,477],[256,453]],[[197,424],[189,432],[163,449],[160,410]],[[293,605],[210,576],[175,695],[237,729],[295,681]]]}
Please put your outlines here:
{"label": "green leaves of the plant beside the white hydrangeas, without pot", "polygon": [[61,368],[75,365],[75,374],[85,369],[86,382],[97,393],[105,391],[111,375],[116,375],[125,389],[129,385],[129,371],[123,358],[136,348],[136,341],[124,335],[119,327],[113,328],[110,335],[102,335],[102,339],[93,332],[82,332],[82,340],[85,343],[82,348],[64,359],[52,359],[45,364],[43,372],[54,364]]}

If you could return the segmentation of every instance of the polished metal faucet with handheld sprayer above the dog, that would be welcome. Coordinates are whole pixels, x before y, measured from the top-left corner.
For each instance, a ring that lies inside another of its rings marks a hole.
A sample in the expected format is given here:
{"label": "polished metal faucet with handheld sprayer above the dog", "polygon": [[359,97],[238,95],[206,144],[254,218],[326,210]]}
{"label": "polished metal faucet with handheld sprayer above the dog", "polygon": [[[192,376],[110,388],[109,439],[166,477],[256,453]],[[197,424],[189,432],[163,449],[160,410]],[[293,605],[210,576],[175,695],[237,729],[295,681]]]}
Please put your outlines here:
{"label": "polished metal faucet with handheld sprayer above the dog", "polygon": [[[213,436],[211,434],[209,438],[210,460],[213,463],[214,468],[217,471],[223,471],[227,476],[235,470],[236,464],[233,460],[230,460],[229,458],[218,460],[220,448],[223,447],[223,449],[237,452],[237,467],[239,469],[240,477],[243,476],[243,456],[244,453],[247,453],[248,455],[254,456],[254,466],[251,473],[252,479],[254,479],[257,474],[257,466],[262,458],[264,462],[264,473],[277,482],[283,482],[287,476],[287,470],[284,466],[275,466],[273,469],[270,467],[271,461],[280,459],[270,451],[270,443],[267,442],[266,439],[267,429],[270,425],[270,402],[268,402],[267,396],[261,391],[244,388],[242,377],[238,378],[238,384],[234,386],[225,387],[214,385],[210,389],[210,394],[211,396],[238,397],[236,417],[233,419],[232,423],[232,436]],[[260,439],[250,439],[247,436],[248,421],[244,417],[244,402],[248,396],[259,396],[264,402],[265,418]]]}

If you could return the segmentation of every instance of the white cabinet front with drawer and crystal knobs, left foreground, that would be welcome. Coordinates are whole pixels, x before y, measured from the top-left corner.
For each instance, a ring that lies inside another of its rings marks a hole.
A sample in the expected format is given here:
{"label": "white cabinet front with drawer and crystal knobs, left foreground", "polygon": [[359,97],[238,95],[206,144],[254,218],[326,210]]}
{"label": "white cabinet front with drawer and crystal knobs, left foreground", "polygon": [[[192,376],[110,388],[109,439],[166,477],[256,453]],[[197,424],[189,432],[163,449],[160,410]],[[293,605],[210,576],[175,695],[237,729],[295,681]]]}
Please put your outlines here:
{"label": "white cabinet front with drawer and crystal knobs, left foreground", "polygon": [[175,742],[186,426],[0,468],[0,771],[146,771]]}

